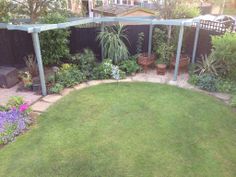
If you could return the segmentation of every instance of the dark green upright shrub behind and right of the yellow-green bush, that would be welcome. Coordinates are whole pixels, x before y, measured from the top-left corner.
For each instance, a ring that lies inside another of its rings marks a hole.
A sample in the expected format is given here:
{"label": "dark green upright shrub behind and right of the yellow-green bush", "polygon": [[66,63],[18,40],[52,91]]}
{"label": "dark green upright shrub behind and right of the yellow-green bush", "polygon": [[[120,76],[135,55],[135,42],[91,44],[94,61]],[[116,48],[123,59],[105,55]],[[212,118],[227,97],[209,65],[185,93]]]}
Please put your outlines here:
{"label": "dark green upright shrub behind and right of the yellow-green bush", "polygon": [[71,57],[71,62],[78,65],[79,70],[84,74],[86,79],[91,79],[93,68],[95,67],[95,55],[92,50],[84,49],[83,53],[78,53]]}

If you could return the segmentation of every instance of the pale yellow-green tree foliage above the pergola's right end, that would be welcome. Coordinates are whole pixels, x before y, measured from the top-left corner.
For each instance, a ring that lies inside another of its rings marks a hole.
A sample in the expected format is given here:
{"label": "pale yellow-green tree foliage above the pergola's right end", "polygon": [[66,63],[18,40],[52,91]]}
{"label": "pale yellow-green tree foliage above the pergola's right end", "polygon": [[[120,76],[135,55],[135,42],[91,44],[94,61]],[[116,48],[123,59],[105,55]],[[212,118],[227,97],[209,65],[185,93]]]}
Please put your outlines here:
{"label": "pale yellow-green tree foliage above the pergola's right end", "polygon": [[200,15],[199,7],[186,3],[176,5],[173,11],[174,19],[194,18],[199,15]]}

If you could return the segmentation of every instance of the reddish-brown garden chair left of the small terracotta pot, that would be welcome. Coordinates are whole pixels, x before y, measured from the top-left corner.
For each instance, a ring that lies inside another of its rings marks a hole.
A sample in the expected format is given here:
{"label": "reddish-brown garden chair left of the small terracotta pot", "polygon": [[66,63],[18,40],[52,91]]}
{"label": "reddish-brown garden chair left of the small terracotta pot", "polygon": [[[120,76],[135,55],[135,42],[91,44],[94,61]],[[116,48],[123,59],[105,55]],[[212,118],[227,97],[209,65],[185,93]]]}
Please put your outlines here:
{"label": "reddish-brown garden chair left of the small terracotta pot", "polygon": [[147,72],[148,66],[152,65],[155,62],[155,55],[151,54],[148,57],[147,53],[141,53],[138,56],[138,64],[143,68],[144,72]]}

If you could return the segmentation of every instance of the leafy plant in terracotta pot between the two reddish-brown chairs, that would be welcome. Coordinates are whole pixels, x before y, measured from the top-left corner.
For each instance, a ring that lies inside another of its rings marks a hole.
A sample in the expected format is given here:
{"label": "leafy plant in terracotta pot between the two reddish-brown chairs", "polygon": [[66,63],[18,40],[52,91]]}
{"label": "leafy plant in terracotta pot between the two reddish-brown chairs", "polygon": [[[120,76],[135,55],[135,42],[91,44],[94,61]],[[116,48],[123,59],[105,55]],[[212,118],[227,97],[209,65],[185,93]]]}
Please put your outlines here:
{"label": "leafy plant in terracotta pot between the two reddish-brown chairs", "polygon": [[173,46],[163,43],[158,47],[156,53],[159,56],[156,61],[157,74],[165,75],[166,68],[169,65],[173,55]]}

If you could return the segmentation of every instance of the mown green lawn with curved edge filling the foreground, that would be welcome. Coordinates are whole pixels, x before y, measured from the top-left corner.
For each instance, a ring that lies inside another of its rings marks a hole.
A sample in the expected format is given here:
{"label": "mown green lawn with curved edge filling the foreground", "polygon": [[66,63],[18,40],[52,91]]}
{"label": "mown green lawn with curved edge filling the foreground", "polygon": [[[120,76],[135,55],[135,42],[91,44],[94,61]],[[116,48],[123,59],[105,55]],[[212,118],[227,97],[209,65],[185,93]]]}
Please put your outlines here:
{"label": "mown green lawn with curved edge filling the foreground", "polygon": [[236,114],[151,83],[75,91],[0,149],[1,177],[236,176]]}

